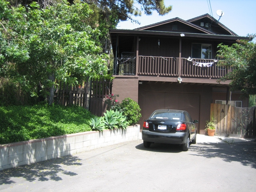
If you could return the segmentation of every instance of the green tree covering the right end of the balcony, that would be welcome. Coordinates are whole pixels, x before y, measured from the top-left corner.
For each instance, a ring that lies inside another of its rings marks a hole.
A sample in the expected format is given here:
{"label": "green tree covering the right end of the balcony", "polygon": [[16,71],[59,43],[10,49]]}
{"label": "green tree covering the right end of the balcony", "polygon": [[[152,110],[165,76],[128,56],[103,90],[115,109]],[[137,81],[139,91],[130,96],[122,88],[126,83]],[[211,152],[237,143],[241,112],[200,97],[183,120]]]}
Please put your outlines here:
{"label": "green tree covering the right end of the balcony", "polygon": [[218,66],[232,69],[219,81],[231,80],[231,90],[239,90],[244,95],[256,94],[256,44],[239,40],[232,46],[218,45]]}

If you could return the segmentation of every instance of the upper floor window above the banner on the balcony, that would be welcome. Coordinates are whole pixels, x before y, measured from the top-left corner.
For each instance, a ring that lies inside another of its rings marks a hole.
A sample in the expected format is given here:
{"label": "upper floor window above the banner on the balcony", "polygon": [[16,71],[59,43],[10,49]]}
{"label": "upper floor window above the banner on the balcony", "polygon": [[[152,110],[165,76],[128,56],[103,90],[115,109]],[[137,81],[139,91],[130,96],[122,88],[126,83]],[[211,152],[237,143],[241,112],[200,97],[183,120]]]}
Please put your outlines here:
{"label": "upper floor window above the banner on the balcony", "polygon": [[212,45],[192,43],[192,58],[211,59]]}

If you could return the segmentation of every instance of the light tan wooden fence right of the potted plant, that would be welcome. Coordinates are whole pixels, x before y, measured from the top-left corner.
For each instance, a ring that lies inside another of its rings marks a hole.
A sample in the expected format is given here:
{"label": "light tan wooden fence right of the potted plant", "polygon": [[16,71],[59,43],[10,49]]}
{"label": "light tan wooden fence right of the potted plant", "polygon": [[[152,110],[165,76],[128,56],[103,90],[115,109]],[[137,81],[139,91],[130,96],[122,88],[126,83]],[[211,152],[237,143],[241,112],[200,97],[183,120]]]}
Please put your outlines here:
{"label": "light tan wooden fence right of the potted plant", "polygon": [[255,106],[240,108],[211,104],[210,116],[216,120],[216,134],[254,138],[256,133]]}

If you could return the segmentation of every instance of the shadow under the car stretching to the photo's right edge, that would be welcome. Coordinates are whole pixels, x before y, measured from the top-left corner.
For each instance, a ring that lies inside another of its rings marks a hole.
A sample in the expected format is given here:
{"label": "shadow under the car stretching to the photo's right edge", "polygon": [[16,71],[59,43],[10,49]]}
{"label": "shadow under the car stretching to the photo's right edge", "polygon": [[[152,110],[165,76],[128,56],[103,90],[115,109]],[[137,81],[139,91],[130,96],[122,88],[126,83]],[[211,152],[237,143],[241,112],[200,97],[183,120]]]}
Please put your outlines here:
{"label": "shadow under the car stretching to the photo's right edge", "polygon": [[[145,148],[143,143],[136,146],[138,150],[162,153],[180,153],[180,145],[154,143]],[[256,169],[256,141],[235,143],[198,143],[191,144],[188,152],[190,155],[205,158],[221,158],[226,162],[240,162],[244,166]]]}

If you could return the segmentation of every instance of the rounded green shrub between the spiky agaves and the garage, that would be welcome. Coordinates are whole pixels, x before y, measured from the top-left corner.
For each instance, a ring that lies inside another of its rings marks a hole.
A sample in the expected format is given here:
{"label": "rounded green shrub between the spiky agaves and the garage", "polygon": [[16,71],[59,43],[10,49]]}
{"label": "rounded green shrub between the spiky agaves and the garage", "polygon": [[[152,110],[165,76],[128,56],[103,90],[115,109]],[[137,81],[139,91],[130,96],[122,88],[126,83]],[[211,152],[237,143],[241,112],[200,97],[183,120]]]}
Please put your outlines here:
{"label": "rounded green shrub between the spiky agaves and the garage", "polygon": [[129,125],[135,125],[141,118],[140,106],[131,98],[125,98],[120,104],[120,110],[126,116]]}

